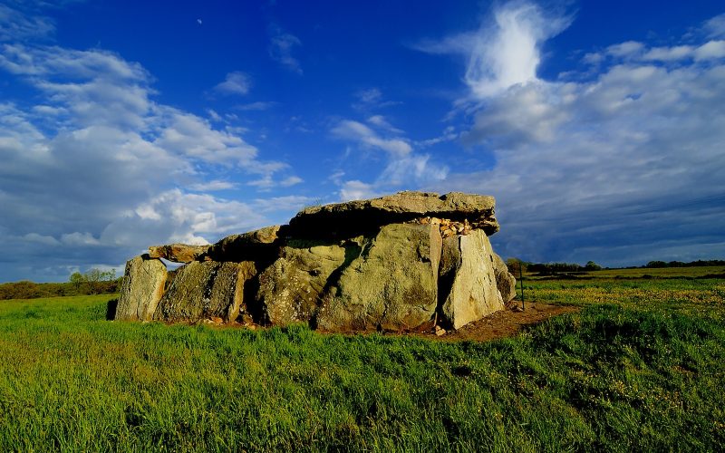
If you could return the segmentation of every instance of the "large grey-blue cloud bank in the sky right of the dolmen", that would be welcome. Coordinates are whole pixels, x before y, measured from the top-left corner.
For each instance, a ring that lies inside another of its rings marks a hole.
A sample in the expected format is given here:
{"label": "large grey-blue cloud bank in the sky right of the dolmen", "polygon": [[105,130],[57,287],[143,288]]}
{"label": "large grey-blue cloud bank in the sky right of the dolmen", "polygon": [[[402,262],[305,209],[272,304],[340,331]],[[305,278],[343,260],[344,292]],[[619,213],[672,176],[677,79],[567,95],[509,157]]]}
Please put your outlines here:
{"label": "large grey-blue cloud bank in the sky right of the dolmen", "polygon": [[[526,26],[536,35],[536,22]],[[493,240],[505,256],[632,265],[722,255],[725,59],[707,39],[615,44],[585,57],[594,74],[488,96],[462,140],[495,164],[451,172],[438,188],[497,197]]]}

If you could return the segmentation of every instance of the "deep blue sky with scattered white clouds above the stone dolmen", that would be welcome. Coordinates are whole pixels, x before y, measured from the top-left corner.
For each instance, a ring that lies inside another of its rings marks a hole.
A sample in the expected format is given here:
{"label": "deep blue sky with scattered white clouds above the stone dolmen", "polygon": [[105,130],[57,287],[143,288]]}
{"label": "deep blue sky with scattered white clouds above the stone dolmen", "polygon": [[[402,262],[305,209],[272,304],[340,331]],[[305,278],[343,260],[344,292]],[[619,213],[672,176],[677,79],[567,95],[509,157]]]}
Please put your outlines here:
{"label": "deep blue sky with scattered white clouds above the stone dolmen", "polygon": [[403,189],[504,257],[725,256],[721,2],[0,4],[0,281]]}

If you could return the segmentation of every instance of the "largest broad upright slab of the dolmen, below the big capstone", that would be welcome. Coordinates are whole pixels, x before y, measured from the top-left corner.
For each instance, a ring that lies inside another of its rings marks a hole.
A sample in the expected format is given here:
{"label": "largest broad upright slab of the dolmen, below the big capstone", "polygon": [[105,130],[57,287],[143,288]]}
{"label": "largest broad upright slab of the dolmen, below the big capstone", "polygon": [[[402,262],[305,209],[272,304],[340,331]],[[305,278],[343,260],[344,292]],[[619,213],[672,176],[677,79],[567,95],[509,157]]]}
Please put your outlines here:
{"label": "largest broad upright slab of the dolmen, below the big capstone", "polygon": [[324,294],[317,326],[349,332],[418,328],[438,304],[441,238],[436,226],[391,224],[362,241],[360,255]]}

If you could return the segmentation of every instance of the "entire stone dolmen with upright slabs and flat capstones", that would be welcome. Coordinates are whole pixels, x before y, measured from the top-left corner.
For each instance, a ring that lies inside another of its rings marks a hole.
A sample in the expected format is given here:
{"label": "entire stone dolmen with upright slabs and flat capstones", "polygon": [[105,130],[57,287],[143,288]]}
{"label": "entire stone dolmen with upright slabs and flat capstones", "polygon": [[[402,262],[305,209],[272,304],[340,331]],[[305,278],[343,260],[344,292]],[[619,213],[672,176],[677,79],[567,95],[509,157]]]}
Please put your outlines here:
{"label": "entire stone dolmen with upright slabs and flat capstones", "polygon": [[309,323],[330,332],[458,329],[503,308],[515,279],[491,250],[494,199],[401,192],[310,207],[212,246],[150,247],[187,263],[126,267],[116,319]]}

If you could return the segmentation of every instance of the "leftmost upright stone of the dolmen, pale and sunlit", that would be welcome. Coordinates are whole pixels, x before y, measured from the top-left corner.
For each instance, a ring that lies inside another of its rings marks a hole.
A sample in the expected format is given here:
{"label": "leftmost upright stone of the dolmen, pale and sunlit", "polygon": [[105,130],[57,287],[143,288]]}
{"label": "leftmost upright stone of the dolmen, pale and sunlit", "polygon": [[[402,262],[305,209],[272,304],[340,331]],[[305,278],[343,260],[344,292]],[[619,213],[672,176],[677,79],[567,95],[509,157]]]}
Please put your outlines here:
{"label": "leftmost upright stone of the dolmen, pale and sunlit", "polygon": [[126,263],[115,319],[150,321],[166,283],[166,265],[160,259],[140,255]]}

